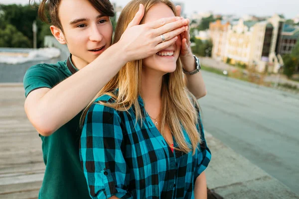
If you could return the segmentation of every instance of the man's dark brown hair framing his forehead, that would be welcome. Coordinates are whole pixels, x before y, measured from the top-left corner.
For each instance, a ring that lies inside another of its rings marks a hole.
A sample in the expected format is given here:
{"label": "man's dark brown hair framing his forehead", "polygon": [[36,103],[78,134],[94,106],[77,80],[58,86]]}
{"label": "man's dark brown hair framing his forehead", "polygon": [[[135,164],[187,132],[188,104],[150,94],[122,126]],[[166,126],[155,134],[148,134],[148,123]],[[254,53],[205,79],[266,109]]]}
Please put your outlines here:
{"label": "man's dark brown hair framing his forehead", "polygon": [[[58,16],[59,4],[61,0],[40,0],[38,6],[38,16],[39,18],[46,22],[55,25],[63,31],[61,21]],[[105,16],[113,17],[115,15],[113,5],[109,0],[88,0],[93,7],[98,10],[101,14]],[[32,5],[35,3],[35,0],[29,0],[29,4]],[[50,16],[50,21],[47,17],[47,14]]]}

